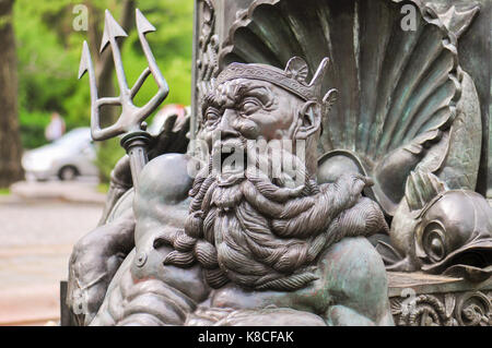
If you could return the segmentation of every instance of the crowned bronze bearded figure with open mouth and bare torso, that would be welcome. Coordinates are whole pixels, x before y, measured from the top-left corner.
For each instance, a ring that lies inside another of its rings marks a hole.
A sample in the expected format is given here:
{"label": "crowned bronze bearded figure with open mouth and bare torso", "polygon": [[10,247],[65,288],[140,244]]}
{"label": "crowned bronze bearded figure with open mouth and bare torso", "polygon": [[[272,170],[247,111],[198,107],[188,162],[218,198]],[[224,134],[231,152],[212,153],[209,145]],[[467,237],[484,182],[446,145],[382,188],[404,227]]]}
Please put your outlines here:
{"label": "crowned bronze bearded figure with open mouth and bare torso", "polygon": [[371,179],[317,182],[327,64],[311,83],[301,58],[219,74],[202,103],[207,156],[153,158],[75,245],[79,324],[393,325],[385,266],[365,239],[388,231],[362,195]]}

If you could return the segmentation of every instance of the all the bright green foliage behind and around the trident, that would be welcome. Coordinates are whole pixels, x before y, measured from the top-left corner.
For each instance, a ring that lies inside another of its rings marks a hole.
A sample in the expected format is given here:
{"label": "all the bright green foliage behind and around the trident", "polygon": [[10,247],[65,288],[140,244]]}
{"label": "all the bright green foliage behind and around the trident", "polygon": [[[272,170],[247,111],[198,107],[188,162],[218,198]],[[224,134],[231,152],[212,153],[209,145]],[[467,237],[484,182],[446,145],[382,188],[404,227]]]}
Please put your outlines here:
{"label": "all the bright green foliage behind and around the trident", "polygon": [[[78,15],[72,10],[79,3],[73,0],[15,1],[20,121],[26,148],[46,143],[44,129],[52,111],[60,112],[68,130],[90,124],[89,82],[86,77],[77,80],[82,41],[90,39],[86,32],[77,32],[72,27]],[[109,9],[115,19],[120,19],[122,1],[86,0],[83,3],[90,9],[90,25],[95,11],[101,15],[104,9]],[[165,103],[189,105],[194,1],[140,0],[137,7],[157,29],[148,34],[148,39],[171,88]],[[102,32],[104,15],[97,25]],[[98,52],[91,53],[95,60]],[[147,67],[134,29],[125,38],[121,55],[131,85]],[[136,104],[143,105],[155,91],[150,77],[136,97]],[[99,146],[97,165],[103,178],[108,178],[121,155],[117,140]]]}

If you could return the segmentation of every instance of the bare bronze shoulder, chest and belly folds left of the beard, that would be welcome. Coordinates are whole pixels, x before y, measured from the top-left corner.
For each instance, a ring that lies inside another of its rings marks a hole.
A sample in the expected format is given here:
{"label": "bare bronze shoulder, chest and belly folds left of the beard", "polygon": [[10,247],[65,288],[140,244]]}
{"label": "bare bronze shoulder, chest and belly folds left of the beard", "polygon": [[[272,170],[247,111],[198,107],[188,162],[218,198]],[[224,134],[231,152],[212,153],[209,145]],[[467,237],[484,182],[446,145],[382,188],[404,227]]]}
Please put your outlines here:
{"label": "bare bronze shoulder, chest and belly folds left of the beard", "polygon": [[189,268],[163,264],[173,249],[162,240],[183,229],[191,183],[185,155],[165,154],[143,168],[133,201],[136,249],[91,325],[181,325],[206,300],[210,289],[198,264]]}

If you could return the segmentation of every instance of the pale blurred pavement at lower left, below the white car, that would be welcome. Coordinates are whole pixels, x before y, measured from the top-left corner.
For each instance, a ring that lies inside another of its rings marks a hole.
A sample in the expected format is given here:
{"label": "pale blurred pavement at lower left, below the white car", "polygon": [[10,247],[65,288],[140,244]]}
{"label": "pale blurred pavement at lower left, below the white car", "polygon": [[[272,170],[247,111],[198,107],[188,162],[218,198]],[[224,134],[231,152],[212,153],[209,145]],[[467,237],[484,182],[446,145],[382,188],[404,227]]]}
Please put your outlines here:
{"label": "pale blurred pavement at lower left, below the white car", "polygon": [[[59,319],[59,281],[67,278],[72,245],[96,226],[102,213],[97,200],[36,196],[46,184],[30,183],[27,195],[0,196],[0,325]],[[77,190],[81,196],[101,196],[95,184],[60,183],[58,191],[65,190],[72,197]]]}

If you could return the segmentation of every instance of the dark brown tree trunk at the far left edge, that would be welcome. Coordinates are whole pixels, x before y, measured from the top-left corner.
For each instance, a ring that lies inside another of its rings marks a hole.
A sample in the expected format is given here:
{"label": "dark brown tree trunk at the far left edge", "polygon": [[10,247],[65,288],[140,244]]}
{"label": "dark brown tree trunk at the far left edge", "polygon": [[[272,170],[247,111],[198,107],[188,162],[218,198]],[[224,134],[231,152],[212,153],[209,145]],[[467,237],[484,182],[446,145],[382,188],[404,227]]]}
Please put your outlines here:
{"label": "dark brown tree trunk at the far left edge", "polygon": [[23,179],[13,0],[0,0],[0,188]]}

